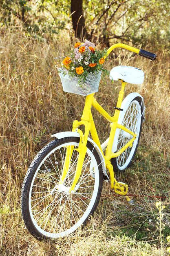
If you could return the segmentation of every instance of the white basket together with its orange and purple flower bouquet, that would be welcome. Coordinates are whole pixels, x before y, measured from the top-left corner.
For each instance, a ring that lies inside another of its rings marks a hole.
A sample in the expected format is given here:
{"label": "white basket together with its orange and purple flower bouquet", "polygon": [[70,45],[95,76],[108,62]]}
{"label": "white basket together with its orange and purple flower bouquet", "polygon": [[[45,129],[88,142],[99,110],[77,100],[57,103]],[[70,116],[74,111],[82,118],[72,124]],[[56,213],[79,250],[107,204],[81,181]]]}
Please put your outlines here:
{"label": "white basket together with its orange and purple flower bouquet", "polygon": [[97,92],[102,71],[108,74],[103,67],[106,49],[96,50],[95,45],[89,41],[75,43],[75,48],[64,58],[59,75],[63,90],[80,95]]}

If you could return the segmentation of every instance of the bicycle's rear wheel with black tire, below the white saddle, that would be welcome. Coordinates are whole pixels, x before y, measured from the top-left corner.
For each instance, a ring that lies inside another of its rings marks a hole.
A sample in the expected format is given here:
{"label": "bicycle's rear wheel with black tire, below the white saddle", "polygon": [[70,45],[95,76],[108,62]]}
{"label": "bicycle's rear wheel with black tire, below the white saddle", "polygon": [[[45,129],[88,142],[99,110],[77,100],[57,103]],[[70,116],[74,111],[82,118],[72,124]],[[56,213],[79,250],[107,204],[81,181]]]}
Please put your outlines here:
{"label": "bicycle's rear wheel with black tire, below the white saddle", "polygon": [[[126,148],[118,157],[112,158],[114,171],[122,171],[130,166],[132,159],[135,156],[142,129],[142,121],[144,114],[144,105],[141,97],[135,97],[130,103],[124,107],[124,111],[120,112],[118,123],[125,126],[127,129],[134,132],[137,137],[132,143],[132,147]],[[119,151],[124,145],[130,141],[132,136],[124,130],[118,129],[115,134],[114,153]]]}

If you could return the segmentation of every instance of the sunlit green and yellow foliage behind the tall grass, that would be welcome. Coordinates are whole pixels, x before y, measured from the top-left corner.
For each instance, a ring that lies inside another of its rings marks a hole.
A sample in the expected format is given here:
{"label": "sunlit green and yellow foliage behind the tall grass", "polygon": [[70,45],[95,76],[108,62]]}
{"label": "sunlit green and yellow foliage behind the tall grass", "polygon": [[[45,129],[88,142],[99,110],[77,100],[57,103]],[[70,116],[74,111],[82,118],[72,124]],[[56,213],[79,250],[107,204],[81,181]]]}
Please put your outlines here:
{"label": "sunlit green and yellow foliage behind the tall grass", "polygon": [[[48,31],[52,40],[67,31],[72,37],[70,6],[71,0],[0,0],[1,30],[22,22],[26,36],[42,39]],[[121,41],[168,51],[169,9],[167,0],[83,0],[88,33],[106,46]]]}

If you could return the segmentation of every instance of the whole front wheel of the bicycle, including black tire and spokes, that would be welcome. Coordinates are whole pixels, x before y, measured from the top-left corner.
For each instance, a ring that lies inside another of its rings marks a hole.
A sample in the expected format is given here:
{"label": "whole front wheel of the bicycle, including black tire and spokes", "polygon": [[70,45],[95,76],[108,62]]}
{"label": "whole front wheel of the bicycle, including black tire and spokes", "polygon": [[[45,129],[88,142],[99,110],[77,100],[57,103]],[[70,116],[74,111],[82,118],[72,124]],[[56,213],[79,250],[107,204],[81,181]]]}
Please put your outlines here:
{"label": "whole front wheel of the bicycle, including black tire and spokes", "polygon": [[[90,142],[75,193],[69,193],[77,166],[78,146],[77,137],[51,141],[38,153],[26,173],[21,195],[22,217],[29,232],[39,240],[72,234],[86,225],[97,207],[102,192],[102,164]],[[74,149],[61,185],[59,181],[69,147]]]}

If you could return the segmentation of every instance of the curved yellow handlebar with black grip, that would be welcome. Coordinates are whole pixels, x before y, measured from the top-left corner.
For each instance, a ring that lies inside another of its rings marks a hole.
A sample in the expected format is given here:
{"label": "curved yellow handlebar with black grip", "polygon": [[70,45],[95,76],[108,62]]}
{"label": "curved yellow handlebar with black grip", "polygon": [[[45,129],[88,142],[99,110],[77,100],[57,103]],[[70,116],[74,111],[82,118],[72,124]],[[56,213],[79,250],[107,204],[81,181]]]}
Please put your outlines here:
{"label": "curved yellow handlebar with black grip", "polygon": [[[139,54],[140,56],[143,56],[145,58],[149,58],[152,61],[155,61],[155,59],[157,58],[157,54],[155,54],[155,53],[147,52],[143,49],[139,50],[139,49],[134,48],[132,46],[121,44],[121,43],[110,46],[110,48],[108,48],[108,50],[107,50],[107,56],[110,54],[110,52],[113,51],[113,49],[115,49],[117,47],[121,47],[121,48],[127,49],[131,52],[135,52],[135,53]],[[104,58],[106,58],[107,56],[105,56]]]}

